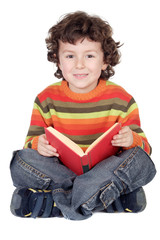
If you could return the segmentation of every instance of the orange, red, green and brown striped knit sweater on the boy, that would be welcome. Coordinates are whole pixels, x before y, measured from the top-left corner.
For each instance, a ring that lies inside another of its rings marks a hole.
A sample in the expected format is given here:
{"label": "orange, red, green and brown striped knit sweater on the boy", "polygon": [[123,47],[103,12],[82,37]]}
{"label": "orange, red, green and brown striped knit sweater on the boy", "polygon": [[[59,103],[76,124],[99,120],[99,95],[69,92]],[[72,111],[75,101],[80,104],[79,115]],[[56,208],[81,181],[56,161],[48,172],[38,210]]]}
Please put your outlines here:
{"label": "orange, red, green and brown striped knit sweater on the boy", "polygon": [[77,143],[84,151],[115,122],[129,126],[133,144],[148,154],[151,147],[140,127],[133,97],[111,81],[100,80],[89,93],[72,92],[65,80],[52,84],[35,99],[25,148],[37,150],[38,137],[52,126]]}

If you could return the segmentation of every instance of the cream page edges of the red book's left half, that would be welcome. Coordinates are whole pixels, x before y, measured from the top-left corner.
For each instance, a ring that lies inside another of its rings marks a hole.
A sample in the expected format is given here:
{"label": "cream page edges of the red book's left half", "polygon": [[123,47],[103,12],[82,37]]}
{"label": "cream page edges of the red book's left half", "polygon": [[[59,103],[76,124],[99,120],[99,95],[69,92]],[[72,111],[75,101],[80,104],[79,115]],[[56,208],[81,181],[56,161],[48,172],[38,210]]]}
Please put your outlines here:
{"label": "cream page edges of the red book's left half", "polygon": [[80,157],[84,155],[83,150],[74,143],[71,139],[57,131],[56,129],[52,127],[47,128],[54,136],[56,136],[58,139],[60,139],[65,145],[67,145],[70,149],[72,149],[74,152],[76,152]]}

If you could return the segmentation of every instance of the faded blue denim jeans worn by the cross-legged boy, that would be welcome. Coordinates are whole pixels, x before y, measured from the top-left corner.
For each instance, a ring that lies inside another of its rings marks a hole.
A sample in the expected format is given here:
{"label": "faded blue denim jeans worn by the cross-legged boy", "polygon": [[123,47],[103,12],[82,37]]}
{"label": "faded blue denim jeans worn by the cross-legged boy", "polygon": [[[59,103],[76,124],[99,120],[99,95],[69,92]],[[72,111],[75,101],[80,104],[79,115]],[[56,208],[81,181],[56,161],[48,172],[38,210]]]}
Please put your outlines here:
{"label": "faded blue denim jeans worn by the cross-legged boy", "polygon": [[63,216],[72,220],[106,209],[121,194],[146,185],[156,174],[154,163],[140,147],[111,156],[80,176],[57,157],[44,157],[32,149],[14,152],[10,168],[16,187],[51,189]]}

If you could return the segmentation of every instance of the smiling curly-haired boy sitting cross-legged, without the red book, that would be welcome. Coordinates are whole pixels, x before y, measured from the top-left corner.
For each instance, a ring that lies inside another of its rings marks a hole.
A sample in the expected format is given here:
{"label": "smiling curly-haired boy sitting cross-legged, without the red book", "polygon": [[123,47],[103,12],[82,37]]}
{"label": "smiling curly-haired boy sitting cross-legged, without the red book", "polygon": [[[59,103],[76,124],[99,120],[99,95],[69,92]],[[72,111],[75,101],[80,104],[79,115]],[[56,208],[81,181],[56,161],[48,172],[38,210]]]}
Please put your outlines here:
{"label": "smiling curly-haired boy sitting cross-legged, without the red book", "polygon": [[[81,220],[100,210],[142,211],[142,186],[156,170],[135,100],[108,80],[120,59],[111,27],[99,17],[75,12],[49,30],[46,43],[48,60],[57,65],[55,76],[63,80],[36,97],[25,147],[14,152],[12,213]],[[115,122],[122,129],[112,145],[121,151],[80,176],[59,161],[44,132],[53,126],[85,151]]]}

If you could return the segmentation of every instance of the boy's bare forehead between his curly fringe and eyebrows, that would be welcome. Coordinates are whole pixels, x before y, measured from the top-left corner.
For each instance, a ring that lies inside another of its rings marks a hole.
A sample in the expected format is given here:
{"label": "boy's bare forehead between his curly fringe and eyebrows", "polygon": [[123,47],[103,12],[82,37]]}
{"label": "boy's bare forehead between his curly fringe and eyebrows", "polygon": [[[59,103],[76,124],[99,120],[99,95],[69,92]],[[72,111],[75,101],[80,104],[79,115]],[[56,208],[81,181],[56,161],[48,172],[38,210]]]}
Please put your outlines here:
{"label": "boy's bare forehead between his curly fringe and eyebrows", "polygon": [[59,41],[59,51],[102,51],[101,43],[95,42],[90,39],[84,38],[79,39],[75,44],[71,44],[69,42]]}

